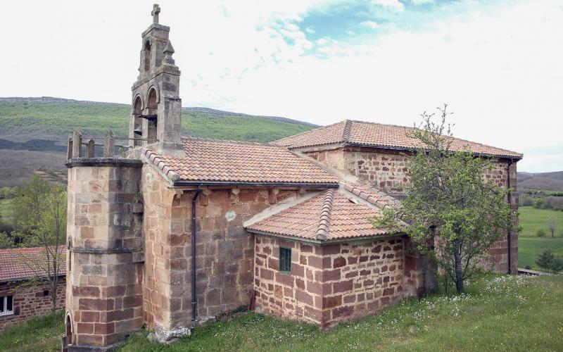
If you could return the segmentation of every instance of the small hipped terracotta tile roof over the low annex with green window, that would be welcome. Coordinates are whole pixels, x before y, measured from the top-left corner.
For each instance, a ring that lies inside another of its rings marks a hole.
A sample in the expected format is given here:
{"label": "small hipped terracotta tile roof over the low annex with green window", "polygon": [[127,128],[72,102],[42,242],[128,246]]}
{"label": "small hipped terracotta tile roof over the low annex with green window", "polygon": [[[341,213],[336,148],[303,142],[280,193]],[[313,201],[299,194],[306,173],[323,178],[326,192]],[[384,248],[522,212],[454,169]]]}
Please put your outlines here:
{"label": "small hipped terracotta tile roof over the low annex with green window", "polygon": [[246,230],[319,241],[371,237],[388,234],[384,229],[374,229],[369,221],[380,214],[353,197],[329,189],[258,220]]}

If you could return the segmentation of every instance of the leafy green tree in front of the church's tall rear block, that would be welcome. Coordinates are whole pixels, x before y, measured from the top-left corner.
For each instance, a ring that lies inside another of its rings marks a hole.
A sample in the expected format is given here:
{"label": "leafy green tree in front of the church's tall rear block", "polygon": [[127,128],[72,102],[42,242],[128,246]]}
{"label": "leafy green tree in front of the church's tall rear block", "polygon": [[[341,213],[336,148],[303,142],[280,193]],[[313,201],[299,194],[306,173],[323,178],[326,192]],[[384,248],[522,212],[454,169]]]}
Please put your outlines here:
{"label": "leafy green tree in front of the church's tall rear block", "polygon": [[434,114],[421,115],[422,123],[409,136],[419,148],[407,165],[407,198],[372,222],[375,227],[406,232],[462,292],[464,279],[514,225],[507,191],[483,177],[491,162],[472,151],[450,148],[453,138],[446,125],[446,108],[438,108],[439,123],[432,121]]}

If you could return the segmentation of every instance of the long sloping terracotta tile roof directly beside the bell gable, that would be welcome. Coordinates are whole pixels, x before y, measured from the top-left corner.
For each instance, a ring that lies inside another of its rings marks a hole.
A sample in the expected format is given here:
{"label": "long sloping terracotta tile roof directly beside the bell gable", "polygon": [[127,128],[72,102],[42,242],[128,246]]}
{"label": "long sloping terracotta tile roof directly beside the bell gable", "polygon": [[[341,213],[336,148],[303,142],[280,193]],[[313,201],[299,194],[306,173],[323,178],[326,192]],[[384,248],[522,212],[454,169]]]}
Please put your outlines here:
{"label": "long sloping terracotta tile roof directly beside the bell gable", "polygon": [[145,156],[174,182],[338,184],[338,179],[285,148],[217,139],[183,139],[186,156]]}

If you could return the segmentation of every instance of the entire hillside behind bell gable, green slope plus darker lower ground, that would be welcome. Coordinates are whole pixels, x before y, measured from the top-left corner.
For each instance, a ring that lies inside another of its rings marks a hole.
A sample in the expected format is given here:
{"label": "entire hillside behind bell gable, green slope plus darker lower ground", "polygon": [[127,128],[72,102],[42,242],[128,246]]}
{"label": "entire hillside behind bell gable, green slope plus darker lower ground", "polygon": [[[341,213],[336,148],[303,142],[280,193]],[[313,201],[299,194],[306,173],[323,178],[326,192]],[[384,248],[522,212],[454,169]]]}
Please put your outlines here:
{"label": "entire hillside behind bell gable, green slope plus darker lower ground", "polygon": [[[113,130],[127,136],[131,106],[51,97],[0,98],[0,187],[29,179],[34,170],[66,173],[66,139]],[[205,138],[270,142],[317,127],[308,122],[246,115],[210,108],[182,108],[182,134]]]}

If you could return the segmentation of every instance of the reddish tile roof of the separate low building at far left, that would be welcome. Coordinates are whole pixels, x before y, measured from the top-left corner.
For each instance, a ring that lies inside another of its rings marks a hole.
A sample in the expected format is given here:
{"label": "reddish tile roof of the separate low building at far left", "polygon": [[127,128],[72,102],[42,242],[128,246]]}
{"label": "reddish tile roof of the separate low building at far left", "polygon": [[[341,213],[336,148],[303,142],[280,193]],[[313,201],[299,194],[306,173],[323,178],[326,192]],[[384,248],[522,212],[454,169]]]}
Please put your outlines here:
{"label": "reddish tile roof of the separate low building at far left", "polygon": [[[59,246],[58,251],[63,252],[63,256],[61,257],[61,270],[59,273],[65,275],[65,246]],[[45,276],[46,270],[42,270],[42,266],[39,266],[43,263],[43,253],[43,247],[0,249],[0,282],[25,279],[34,276]],[[24,264],[24,260],[31,264]]]}

